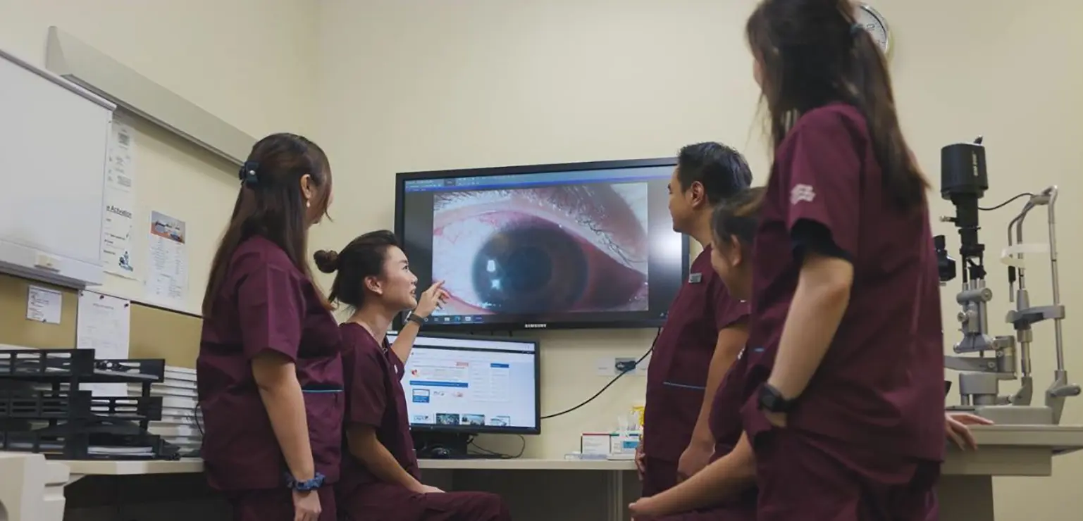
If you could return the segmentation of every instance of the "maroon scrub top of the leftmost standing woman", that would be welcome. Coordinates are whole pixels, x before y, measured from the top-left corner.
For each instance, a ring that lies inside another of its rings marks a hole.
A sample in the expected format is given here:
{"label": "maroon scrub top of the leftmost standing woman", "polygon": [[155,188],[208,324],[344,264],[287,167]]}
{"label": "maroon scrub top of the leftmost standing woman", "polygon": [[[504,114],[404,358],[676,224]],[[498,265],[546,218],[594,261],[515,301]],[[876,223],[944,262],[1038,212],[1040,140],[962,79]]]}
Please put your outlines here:
{"label": "maroon scrub top of the leftmost standing woman", "polygon": [[296,364],[316,471],[334,483],[342,445],[339,329],[312,282],[271,240],[246,239],[230,259],[196,360],[204,416],[200,452],[219,490],[285,484],[285,459],[252,377],[252,357],[274,351]]}

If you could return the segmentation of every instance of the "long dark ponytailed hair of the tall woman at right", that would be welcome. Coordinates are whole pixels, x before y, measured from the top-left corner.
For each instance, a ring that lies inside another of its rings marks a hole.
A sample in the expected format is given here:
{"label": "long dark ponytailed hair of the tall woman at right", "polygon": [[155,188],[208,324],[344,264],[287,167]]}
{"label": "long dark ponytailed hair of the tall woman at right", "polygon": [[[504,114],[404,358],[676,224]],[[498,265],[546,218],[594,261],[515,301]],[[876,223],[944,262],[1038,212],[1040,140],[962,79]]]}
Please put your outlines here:
{"label": "long dark ponytailed hair of the tall woman at right", "polygon": [[902,211],[921,207],[928,182],[899,127],[887,57],[857,24],[850,0],[764,0],[745,35],[762,71],[772,145],[801,115],[830,103],[865,118],[884,192]]}

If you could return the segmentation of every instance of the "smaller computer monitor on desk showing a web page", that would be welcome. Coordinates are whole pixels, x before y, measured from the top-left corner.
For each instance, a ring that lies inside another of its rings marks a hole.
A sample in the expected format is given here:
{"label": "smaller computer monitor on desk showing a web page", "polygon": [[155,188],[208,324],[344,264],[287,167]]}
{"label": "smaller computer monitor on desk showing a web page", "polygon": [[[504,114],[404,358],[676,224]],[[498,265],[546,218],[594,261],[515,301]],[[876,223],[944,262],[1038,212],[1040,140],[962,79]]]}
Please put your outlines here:
{"label": "smaller computer monitor on desk showing a web page", "polygon": [[536,340],[418,336],[402,385],[421,456],[438,446],[465,454],[473,434],[540,432]]}

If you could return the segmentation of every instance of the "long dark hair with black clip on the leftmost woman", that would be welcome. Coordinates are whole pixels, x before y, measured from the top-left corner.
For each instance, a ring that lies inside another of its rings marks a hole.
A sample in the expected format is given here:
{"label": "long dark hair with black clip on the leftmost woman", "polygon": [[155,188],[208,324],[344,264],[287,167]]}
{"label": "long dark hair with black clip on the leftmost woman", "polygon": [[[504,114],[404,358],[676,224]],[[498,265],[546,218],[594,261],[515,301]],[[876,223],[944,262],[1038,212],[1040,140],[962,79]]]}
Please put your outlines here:
{"label": "long dark hair with black clip on the leftmost woman", "polygon": [[326,216],[330,203],[331,167],[327,155],[318,145],[297,134],[271,134],[257,142],[238,175],[242,183],[233,214],[210,264],[204,316],[213,311],[233,253],[250,237],[259,235],[274,243],[298,270],[311,275],[305,259],[311,222],[301,178],[312,178],[317,192],[309,203],[319,213]]}

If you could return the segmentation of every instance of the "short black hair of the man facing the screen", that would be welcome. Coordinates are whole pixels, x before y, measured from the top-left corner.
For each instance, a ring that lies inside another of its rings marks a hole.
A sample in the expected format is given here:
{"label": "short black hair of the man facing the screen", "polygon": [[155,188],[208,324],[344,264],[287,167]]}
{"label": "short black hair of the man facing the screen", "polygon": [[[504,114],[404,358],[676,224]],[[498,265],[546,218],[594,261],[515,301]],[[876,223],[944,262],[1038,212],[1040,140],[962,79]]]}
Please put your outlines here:
{"label": "short black hair of the man facing the screen", "polygon": [[677,181],[682,192],[703,185],[707,203],[717,205],[752,184],[752,170],[740,152],[721,143],[687,145],[677,155]]}

